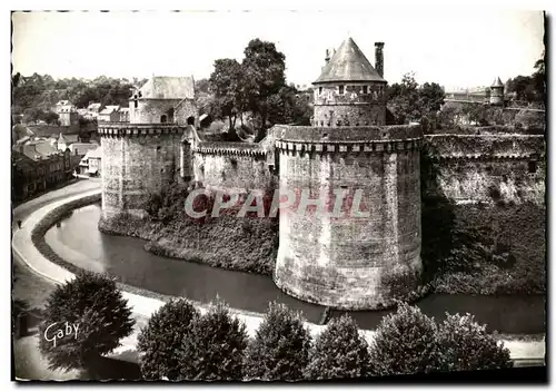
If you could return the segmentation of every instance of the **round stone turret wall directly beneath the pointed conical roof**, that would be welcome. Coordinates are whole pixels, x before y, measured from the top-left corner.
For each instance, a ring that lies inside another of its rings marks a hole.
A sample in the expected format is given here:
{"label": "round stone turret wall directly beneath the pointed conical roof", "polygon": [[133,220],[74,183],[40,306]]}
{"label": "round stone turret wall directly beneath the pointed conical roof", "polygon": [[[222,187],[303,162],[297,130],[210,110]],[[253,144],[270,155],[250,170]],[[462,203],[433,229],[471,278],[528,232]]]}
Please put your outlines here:
{"label": "round stone turret wall directly beneath the pointed conical roof", "polygon": [[[364,94],[364,87],[367,92]],[[317,127],[385,125],[386,84],[350,82],[315,86],[314,125]]]}

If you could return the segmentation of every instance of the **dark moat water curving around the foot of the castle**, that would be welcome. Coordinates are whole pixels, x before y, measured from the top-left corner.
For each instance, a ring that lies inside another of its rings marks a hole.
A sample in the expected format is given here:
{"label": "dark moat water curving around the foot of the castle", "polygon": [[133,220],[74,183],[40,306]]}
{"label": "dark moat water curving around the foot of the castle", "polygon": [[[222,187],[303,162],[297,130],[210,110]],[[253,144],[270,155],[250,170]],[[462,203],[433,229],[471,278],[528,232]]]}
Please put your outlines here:
{"label": "dark moat water curving around the foot of the castle", "polygon": [[[302,312],[314,323],[324,306],[308,304],[284,294],[271,277],[225,271],[203,264],[156,256],[143,249],[145,241],[111,236],[98,231],[100,206],[73,210],[46,234],[47,243],[68,262],[95,272],[119,276],[121,282],[166,295],[185,296],[208,303],[218,295],[228,305],[264,313],[277,301]],[[544,295],[444,295],[431,294],[417,305],[436,320],[445,313],[471,313],[490,331],[500,333],[544,333]],[[375,329],[391,311],[348,312],[360,329]],[[342,312],[332,312],[332,316]]]}

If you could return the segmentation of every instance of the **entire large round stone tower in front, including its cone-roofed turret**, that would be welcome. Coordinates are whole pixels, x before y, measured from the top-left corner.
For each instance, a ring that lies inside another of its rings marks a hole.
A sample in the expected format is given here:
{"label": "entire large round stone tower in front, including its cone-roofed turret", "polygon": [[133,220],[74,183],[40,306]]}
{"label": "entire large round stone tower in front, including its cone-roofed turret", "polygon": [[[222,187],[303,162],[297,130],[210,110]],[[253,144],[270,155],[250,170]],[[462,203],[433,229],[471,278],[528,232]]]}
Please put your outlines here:
{"label": "entire large round stone tower in front, including its cone-roofed turret", "polygon": [[348,39],[315,82],[315,126],[275,128],[280,194],[297,207],[280,209],[274,280],[292,296],[371,310],[419,284],[423,134],[384,126],[385,87]]}

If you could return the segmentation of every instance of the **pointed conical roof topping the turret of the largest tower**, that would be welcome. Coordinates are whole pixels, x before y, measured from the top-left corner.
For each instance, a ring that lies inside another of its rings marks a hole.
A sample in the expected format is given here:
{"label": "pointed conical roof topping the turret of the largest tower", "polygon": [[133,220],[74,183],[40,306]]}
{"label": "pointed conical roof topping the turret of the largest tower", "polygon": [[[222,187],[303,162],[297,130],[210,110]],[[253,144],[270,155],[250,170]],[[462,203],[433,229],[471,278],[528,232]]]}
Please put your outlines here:
{"label": "pointed conical roof topping the turret of the largest tower", "polygon": [[351,38],[345,40],[314,84],[329,81],[383,81]]}

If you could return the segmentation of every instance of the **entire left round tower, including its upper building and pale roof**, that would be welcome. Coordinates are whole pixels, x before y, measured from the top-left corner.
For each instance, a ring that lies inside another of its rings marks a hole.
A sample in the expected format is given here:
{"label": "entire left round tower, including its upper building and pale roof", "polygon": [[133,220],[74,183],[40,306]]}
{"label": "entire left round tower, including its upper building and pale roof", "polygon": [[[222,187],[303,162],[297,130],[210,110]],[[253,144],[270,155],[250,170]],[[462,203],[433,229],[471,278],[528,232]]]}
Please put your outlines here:
{"label": "entire left round tower, including its upper building and pale roof", "polygon": [[129,100],[129,122],[99,122],[102,218],[145,214],[145,203],[179,178],[182,136],[195,124],[192,78],[153,77]]}

